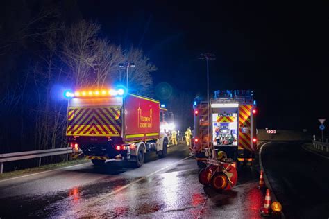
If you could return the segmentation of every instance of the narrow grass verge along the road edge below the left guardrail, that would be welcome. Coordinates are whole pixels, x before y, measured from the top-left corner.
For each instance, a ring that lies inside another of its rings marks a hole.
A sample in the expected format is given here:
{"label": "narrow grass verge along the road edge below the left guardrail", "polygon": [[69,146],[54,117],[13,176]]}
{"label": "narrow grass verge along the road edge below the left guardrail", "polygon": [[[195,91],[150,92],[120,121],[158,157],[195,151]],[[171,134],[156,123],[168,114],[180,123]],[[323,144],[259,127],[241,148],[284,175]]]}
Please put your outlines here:
{"label": "narrow grass verge along the road edge below the left guardrail", "polygon": [[47,165],[43,165],[40,167],[26,168],[23,170],[14,170],[14,171],[0,174],[0,179],[6,179],[6,178],[10,178],[10,177],[16,177],[19,175],[26,175],[26,174],[31,174],[31,173],[38,173],[38,172],[42,172],[44,170],[52,170],[52,169],[62,168],[65,166],[71,166],[71,165],[76,165],[76,164],[83,164],[83,163],[87,163],[88,161],[90,161],[90,160],[82,158],[82,159],[74,159],[74,160],[67,161],[67,162],[63,161],[63,162],[56,163],[56,164],[47,164]]}

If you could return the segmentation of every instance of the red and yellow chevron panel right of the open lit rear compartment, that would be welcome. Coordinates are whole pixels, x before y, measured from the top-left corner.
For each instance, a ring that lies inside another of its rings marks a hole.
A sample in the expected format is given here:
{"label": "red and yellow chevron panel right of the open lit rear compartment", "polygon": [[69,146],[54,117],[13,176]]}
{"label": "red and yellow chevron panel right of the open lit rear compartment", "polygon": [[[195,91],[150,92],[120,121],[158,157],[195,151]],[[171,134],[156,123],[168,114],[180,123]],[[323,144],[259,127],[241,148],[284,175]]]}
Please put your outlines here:
{"label": "red and yellow chevron panel right of the open lit rear compartment", "polygon": [[[251,108],[252,105],[239,105],[239,147],[251,150]],[[249,132],[242,133],[242,128],[249,128]]]}

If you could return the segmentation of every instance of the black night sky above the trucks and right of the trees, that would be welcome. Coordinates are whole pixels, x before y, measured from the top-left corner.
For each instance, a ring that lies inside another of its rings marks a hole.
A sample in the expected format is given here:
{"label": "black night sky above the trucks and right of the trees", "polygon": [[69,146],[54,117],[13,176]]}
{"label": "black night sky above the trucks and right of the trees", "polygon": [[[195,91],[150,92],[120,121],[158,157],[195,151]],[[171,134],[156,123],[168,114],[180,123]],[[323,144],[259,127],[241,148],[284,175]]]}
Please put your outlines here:
{"label": "black night sky above the trucks and right of the trees", "polygon": [[[325,1],[76,1],[67,20],[98,21],[115,44],[144,50],[174,94],[252,89],[258,127],[318,130],[328,118],[328,6]],[[63,1],[64,4],[69,4]],[[187,106],[191,112],[192,103]]]}

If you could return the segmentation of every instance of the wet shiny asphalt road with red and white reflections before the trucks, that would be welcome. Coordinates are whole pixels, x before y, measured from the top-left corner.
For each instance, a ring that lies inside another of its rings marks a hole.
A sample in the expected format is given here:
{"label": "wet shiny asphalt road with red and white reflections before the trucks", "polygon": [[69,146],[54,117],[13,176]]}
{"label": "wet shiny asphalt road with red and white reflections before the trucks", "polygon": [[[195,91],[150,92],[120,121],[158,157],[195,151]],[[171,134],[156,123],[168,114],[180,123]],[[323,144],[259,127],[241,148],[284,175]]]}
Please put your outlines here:
{"label": "wet shiny asphalt road with red and white reflections before the trucks", "polygon": [[165,159],[148,155],[141,168],[88,163],[0,181],[0,218],[260,218],[255,170],[239,171],[233,190],[216,193],[199,184],[188,153],[182,144]]}

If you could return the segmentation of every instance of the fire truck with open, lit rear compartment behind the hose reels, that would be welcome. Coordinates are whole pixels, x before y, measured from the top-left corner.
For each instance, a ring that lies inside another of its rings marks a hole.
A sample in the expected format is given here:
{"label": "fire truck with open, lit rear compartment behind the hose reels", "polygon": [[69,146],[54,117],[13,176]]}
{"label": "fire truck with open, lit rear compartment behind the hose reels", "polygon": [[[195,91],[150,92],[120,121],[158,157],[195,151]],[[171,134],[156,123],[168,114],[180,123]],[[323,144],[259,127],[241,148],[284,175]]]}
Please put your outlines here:
{"label": "fire truck with open, lit rear compartment behind the hose reels", "polygon": [[251,164],[257,148],[256,102],[249,90],[215,91],[214,98],[194,100],[194,148],[199,165],[205,148],[224,151],[235,161]]}

